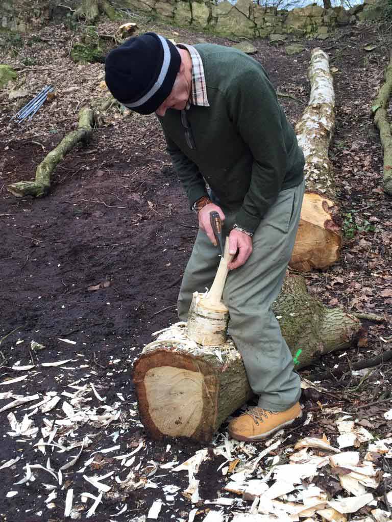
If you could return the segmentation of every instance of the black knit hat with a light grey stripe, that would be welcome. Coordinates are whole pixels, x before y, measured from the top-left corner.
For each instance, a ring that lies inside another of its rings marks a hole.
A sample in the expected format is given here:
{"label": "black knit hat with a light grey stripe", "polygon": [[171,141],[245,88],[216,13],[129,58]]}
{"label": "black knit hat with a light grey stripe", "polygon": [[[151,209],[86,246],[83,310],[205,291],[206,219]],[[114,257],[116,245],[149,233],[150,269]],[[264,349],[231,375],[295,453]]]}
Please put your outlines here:
{"label": "black knit hat with a light grey stripe", "polygon": [[106,84],[123,105],[139,112],[155,112],[169,96],[181,65],[176,46],[148,32],[110,51],[105,61]]}

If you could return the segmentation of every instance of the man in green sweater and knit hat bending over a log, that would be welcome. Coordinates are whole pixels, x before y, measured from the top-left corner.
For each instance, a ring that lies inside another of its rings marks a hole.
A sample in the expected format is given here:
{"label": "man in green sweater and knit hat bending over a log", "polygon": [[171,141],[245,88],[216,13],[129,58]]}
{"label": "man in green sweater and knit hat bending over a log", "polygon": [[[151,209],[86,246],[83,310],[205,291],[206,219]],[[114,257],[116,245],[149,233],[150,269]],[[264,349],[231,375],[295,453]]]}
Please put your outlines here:
{"label": "man in green sweater and knit hat bending over a log", "polygon": [[[302,416],[299,376],[271,311],[294,246],[304,193],[304,157],[263,67],[220,45],[178,44],[155,33],[126,41],[106,60],[113,96],[156,113],[199,233],[183,276],[178,315],[211,287],[219,258],[210,225],[228,235],[223,300],[249,383],[252,408],[229,424],[241,441],[268,437]],[[210,187],[207,192],[206,184]]]}

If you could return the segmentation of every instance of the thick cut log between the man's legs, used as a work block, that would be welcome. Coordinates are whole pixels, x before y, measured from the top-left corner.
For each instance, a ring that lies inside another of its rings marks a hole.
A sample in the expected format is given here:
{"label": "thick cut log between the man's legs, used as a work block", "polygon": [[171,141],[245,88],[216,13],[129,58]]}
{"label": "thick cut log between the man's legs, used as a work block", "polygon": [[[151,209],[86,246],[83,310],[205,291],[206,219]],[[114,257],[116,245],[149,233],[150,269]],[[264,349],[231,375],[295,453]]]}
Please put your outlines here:
{"label": "thick cut log between the man's legs, used as a work block", "polygon": [[[349,347],[361,329],[358,319],[310,295],[301,276],[286,277],[273,311],[297,369]],[[139,411],[153,438],[210,441],[252,391],[232,339],[205,347],[187,334],[187,324],[177,323],[157,332],[157,340],[143,349],[134,366]]]}

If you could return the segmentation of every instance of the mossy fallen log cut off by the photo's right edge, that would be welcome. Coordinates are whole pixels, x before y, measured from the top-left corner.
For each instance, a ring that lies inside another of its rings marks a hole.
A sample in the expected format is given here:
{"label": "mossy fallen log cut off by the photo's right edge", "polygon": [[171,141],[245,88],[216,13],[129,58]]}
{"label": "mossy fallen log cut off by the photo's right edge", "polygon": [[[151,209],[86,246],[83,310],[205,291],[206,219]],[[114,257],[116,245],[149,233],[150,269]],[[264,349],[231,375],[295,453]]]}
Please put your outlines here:
{"label": "mossy fallen log cut off by the photo's right edge", "polygon": [[383,187],[387,194],[392,195],[392,129],[388,120],[388,100],[392,91],[392,50],[389,51],[389,63],[384,72],[384,84],[378,91],[372,104],[374,124],[380,133],[383,147]]}

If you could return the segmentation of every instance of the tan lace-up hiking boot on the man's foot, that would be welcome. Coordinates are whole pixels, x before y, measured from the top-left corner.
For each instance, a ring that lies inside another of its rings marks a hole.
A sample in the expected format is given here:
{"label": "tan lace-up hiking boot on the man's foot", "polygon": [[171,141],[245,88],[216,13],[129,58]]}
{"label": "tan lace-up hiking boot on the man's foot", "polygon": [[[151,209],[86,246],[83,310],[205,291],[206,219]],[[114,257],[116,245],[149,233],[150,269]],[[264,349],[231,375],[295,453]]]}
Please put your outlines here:
{"label": "tan lace-up hiking boot on the man's foot", "polygon": [[285,411],[273,412],[262,408],[251,408],[230,421],[228,431],[230,437],[237,441],[260,441],[301,417],[302,410],[299,402]]}

